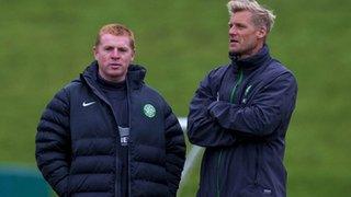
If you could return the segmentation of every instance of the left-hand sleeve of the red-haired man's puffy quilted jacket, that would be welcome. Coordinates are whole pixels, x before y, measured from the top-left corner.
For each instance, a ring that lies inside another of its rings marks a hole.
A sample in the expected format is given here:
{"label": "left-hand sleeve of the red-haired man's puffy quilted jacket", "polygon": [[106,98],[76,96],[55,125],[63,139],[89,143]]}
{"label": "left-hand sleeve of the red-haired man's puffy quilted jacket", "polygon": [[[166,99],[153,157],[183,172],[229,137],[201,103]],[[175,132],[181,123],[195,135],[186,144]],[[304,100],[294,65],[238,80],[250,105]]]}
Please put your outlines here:
{"label": "left-hand sleeve of the red-haired man's puffy quilted jacket", "polygon": [[68,101],[64,89],[54,96],[41,117],[35,139],[37,166],[59,196],[67,195],[70,163]]}

